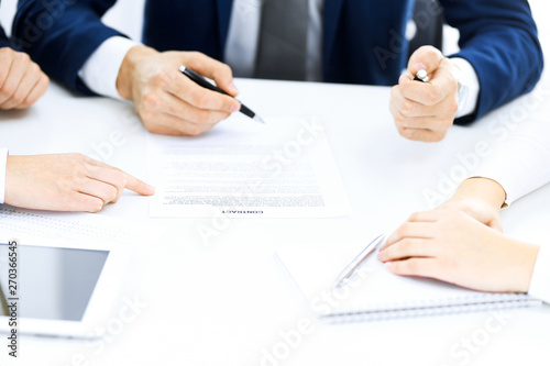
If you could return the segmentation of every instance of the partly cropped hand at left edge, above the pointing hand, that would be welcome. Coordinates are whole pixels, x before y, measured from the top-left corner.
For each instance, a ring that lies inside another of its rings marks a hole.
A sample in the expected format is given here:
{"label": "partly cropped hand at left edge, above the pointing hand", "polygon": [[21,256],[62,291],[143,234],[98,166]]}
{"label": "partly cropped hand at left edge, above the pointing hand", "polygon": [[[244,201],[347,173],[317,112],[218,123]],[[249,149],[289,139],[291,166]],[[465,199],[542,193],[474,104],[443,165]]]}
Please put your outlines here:
{"label": "partly cropped hand at left edge, above the pointing hand", "polygon": [[28,54],[0,48],[0,109],[25,109],[47,90],[50,79]]}

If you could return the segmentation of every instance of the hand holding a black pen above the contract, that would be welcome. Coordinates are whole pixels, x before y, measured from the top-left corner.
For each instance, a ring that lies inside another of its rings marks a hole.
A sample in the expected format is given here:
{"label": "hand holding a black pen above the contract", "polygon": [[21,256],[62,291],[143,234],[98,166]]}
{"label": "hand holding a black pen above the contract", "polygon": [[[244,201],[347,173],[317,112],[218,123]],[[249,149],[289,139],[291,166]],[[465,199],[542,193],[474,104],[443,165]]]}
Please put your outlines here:
{"label": "hand holding a black pen above the contract", "polygon": [[122,98],[133,100],[148,131],[198,135],[239,111],[235,99],[198,86],[178,70],[180,65],[215,80],[229,95],[238,95],[231,69],[220,62],[197,52],[158,53],[135,46],[122,62],[117,89]]}

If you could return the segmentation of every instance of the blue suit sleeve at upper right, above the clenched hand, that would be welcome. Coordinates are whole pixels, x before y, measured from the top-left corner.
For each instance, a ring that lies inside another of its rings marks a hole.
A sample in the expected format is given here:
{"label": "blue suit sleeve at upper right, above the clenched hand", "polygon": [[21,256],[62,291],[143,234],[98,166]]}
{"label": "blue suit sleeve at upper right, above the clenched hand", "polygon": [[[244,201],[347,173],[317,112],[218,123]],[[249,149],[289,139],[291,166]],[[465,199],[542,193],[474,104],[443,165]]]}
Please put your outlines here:
{"label": "blue suit sleeve at upper right, above the clenched hand", "polygon": [[[441,0],[447,22],[459,29],[461,51],[452,56],[472,64],[480,78],[469,123],[535,88],[542,71],[542,49],[527,0]],[[452,57],[451,56],[451,57]]]}

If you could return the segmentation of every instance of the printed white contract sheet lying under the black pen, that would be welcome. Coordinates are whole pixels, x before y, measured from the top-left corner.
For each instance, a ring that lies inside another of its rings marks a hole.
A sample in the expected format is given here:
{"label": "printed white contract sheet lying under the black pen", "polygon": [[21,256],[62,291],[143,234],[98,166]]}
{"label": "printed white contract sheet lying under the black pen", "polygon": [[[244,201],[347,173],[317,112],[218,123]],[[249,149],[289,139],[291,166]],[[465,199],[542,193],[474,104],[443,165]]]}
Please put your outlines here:
{"label": "printed white contract sheet lying under the black pen", "polygon": [[147,135],[151,217],[329,218],[350,214],[318,118],[233,115],[200,136]]}

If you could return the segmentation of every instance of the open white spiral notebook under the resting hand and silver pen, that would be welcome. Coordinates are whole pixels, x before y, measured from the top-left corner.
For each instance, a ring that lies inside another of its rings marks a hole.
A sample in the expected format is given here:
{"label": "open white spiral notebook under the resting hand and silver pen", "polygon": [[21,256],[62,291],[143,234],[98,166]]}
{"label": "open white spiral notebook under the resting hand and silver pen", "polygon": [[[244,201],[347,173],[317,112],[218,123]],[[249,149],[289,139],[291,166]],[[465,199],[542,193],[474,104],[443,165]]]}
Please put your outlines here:
{"label": "open white spiral notebook under the resting hand and silver pen", "polygon": [[490,293],[427,278],[393,275],[372,253],[352,281],[333,289],[339,273],[361,252],[363,243],[280,246],[277,256],[305,296],[310,309],[328,322],[490,311],[540,306],[521,293]]}

